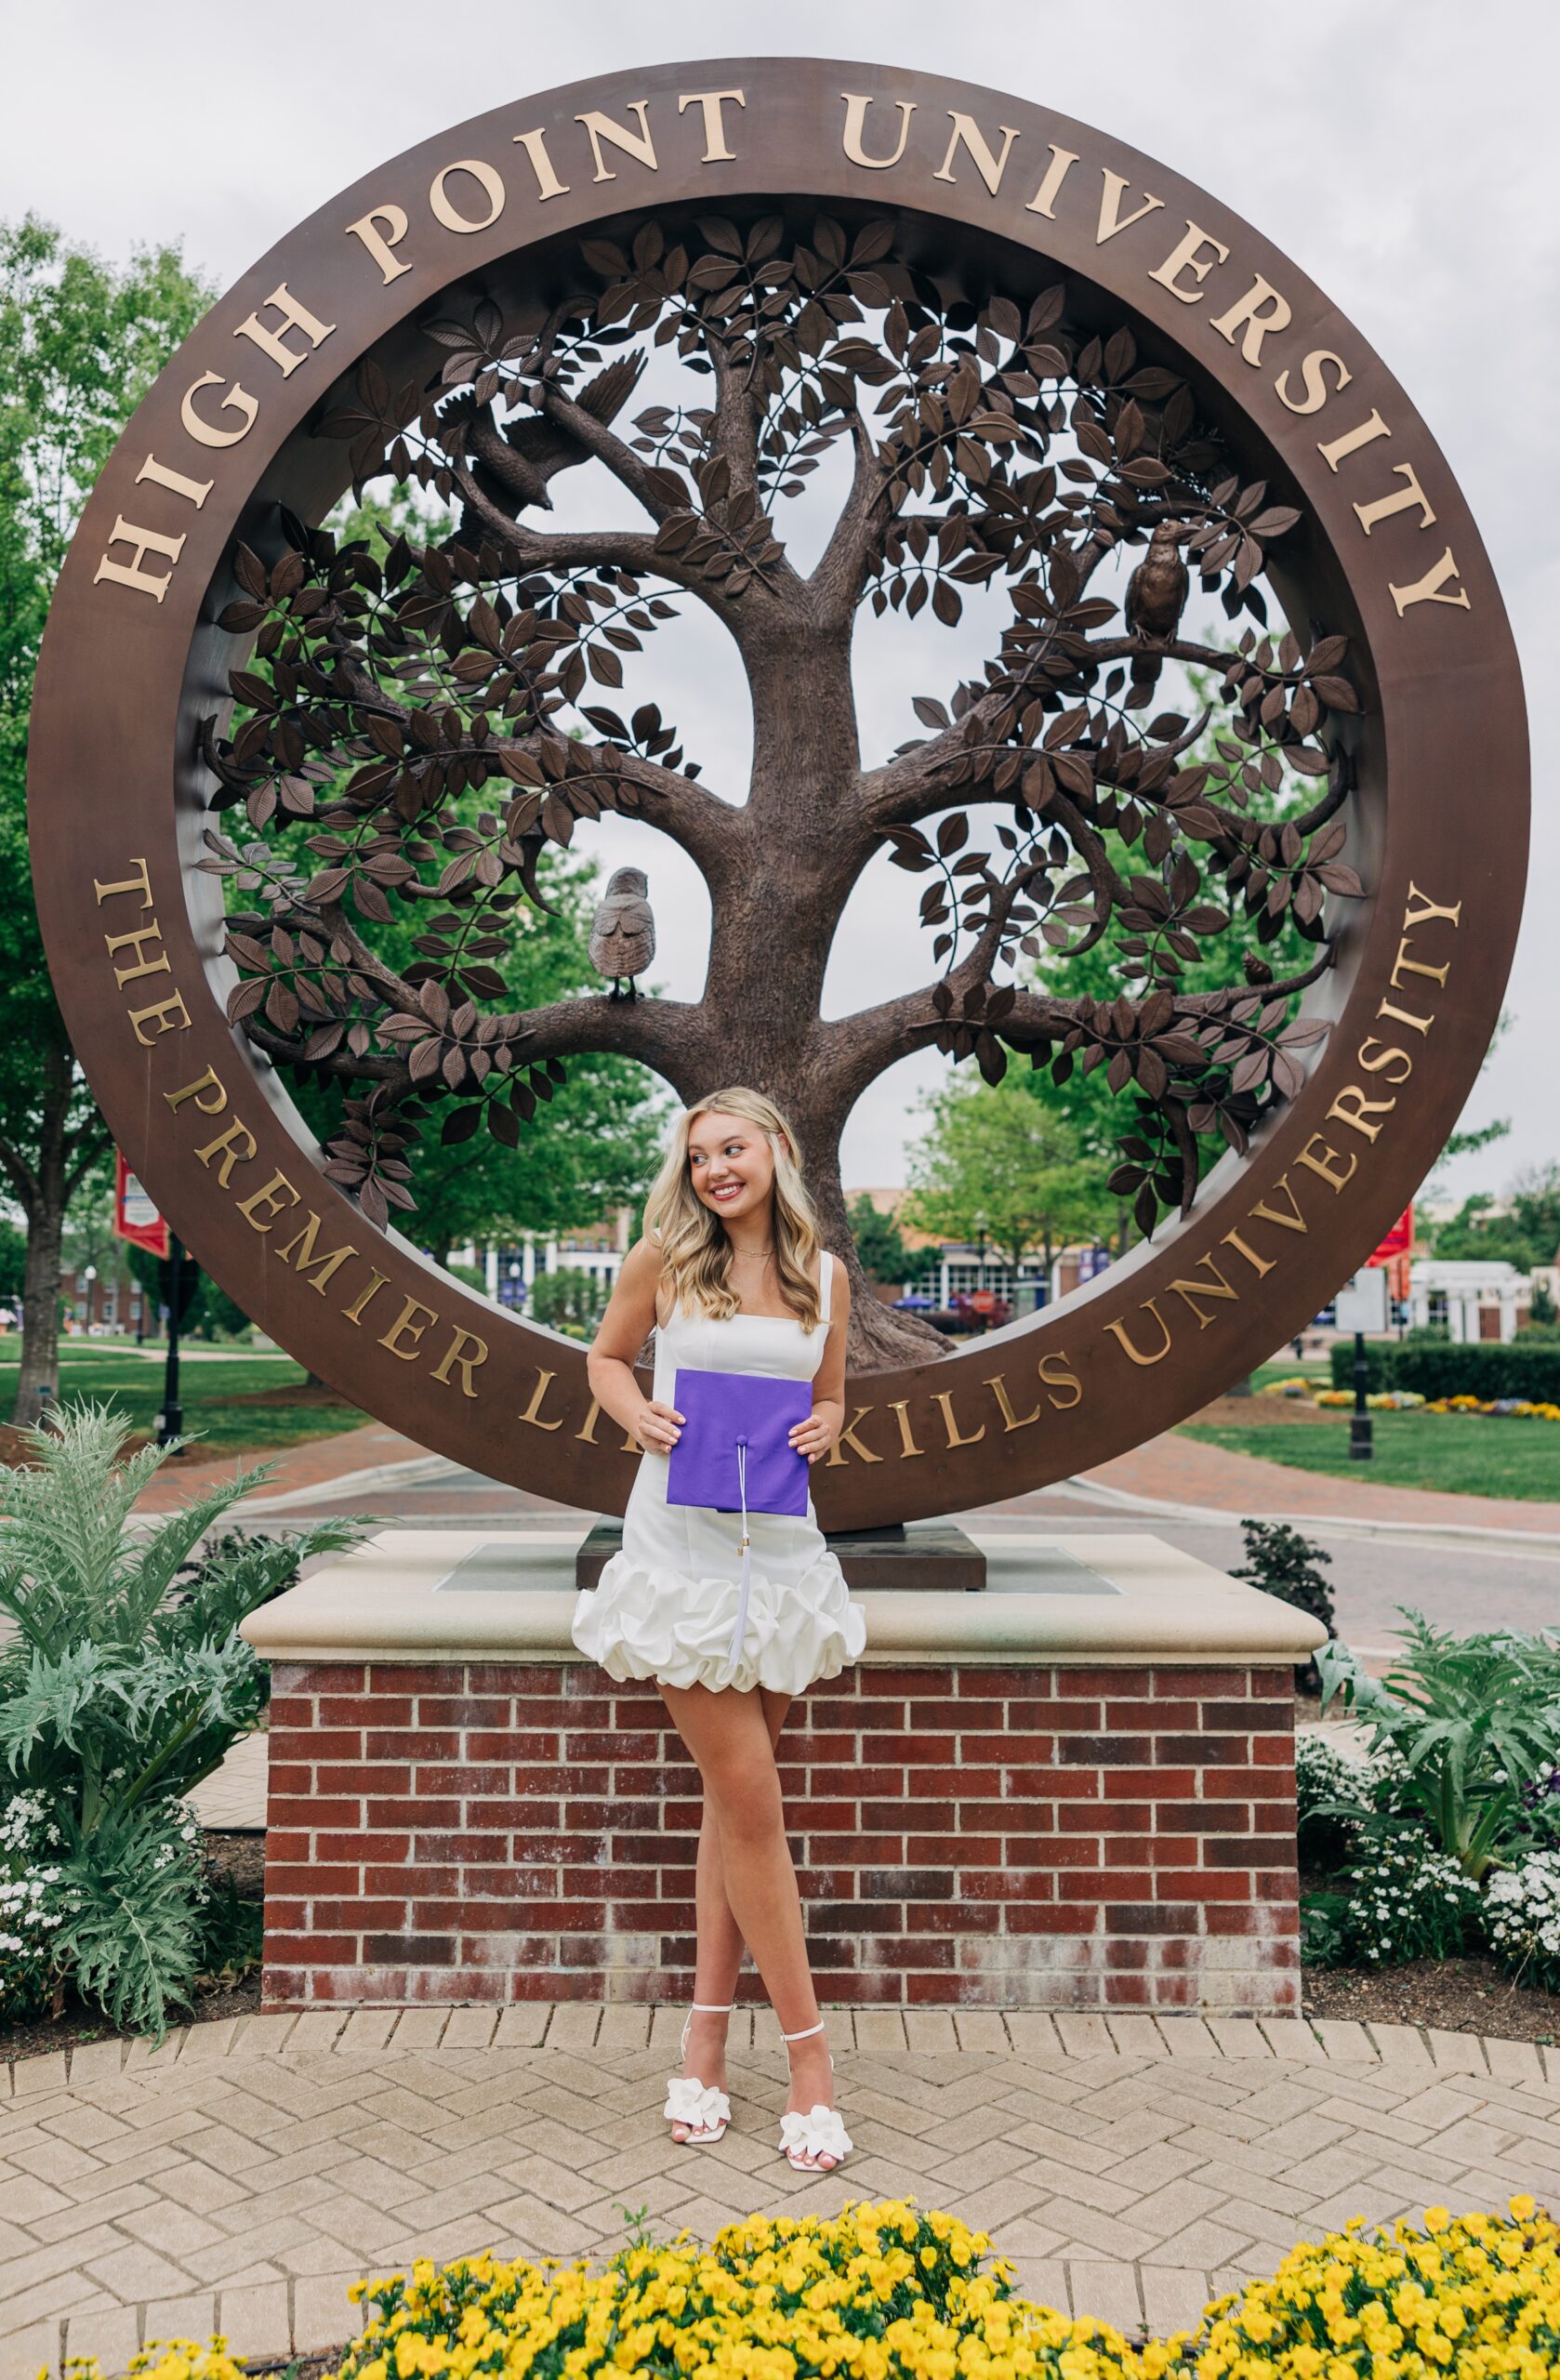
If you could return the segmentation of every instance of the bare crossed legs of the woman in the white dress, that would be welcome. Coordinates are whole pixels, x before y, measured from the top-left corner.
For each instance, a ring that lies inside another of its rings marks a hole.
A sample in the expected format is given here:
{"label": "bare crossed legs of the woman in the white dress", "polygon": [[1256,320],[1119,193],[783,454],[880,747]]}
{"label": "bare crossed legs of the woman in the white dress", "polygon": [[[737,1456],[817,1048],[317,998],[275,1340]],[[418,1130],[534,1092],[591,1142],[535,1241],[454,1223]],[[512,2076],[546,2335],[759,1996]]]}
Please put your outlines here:
{"label": "bare crossed legs of the woman in the white dress", "polygon": [[[819,2011],[774,1766],[774,1747],[791,1697],[767,1687],[738,1695],[731,1690],[712,1692],[705,1685],[662,1685],[662,1697],[705,1785],[695,1871],[698,1966],[693,1997],[724,2006],[736,1992],[745,1944],[781,2030],[800,2033],[817,2023]],[[791,2097],[786,2106],[826,2104],[831,2068],[824,2035],[817,2033],[812,2040],[788,2047]],[[688,2073],[695,2073],[700,2082],[724,2087],[724,2016],[693,2018]],[[686,2125],[674,2125],[674,2137],[686,2140]],[[826,2171],[834,2159],[824,2154],[817,2163],[819,2171]]]}

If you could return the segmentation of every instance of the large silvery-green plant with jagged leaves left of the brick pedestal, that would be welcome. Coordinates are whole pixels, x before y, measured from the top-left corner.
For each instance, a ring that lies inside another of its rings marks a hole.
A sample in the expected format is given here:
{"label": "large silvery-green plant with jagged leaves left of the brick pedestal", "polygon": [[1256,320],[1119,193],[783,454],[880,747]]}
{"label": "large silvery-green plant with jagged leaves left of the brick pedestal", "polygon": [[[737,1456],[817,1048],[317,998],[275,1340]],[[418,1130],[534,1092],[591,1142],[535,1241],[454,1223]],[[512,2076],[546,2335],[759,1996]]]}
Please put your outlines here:
{"label": "large silvery-green plant with jagged leaves left of the brick pedestal", "polygon": [[188,1568],[269,1466],[133,1523],[171,1447],[121,1464],[126,1421],[95,1404],[21,1435],[36,1468],[0,1473],[0,1611],[17,1630],[0,1649],[0,1764],[62,1842],[55,1973],[114,2023],[162,2035],[202,1956],[200,1833],[183,1795],[262,1706],[238,1621],[307,1554],[355,1545],[360,1523],[226,1540]]}

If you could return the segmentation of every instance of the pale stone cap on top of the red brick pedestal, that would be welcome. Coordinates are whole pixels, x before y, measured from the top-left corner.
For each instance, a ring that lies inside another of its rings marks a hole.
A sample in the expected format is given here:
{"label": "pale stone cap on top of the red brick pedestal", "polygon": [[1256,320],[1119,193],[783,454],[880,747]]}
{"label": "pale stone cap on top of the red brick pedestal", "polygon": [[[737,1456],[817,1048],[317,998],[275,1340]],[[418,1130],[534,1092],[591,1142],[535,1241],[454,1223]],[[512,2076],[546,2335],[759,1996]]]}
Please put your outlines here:
{"label": "pale stone cap on top of the red brick pedestal", "polygon": [[[981,1533],[984,1595],[874,1590],[869,1664],[1303,1661],[1327,1630],[1148,1535]],[[395,1528],[250,1611],[264,1661],[584,1661],[569,1637],[584,1526]]]}

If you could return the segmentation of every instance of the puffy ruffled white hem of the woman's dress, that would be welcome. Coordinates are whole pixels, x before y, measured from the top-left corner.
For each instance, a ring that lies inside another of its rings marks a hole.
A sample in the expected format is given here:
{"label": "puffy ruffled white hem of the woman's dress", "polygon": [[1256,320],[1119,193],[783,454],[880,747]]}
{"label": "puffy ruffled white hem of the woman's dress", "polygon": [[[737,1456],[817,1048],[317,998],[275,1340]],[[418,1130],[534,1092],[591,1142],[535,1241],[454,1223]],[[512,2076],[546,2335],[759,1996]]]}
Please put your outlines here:
{"label": "puffy ruffled white hem of the woman's dress", "polygon": [[795,1585],[753,1571],[743,1647],[726,1676],[736,1597],[736,1578],[686,1578],[612,1554],[600,1583],[579,1595],[569,1635],[610,1678],[738,1692],[767,1685],[779,1695],[838,1678],[867,1645],[867,1614],[850,1602],[836,1557],[824,1552]]}

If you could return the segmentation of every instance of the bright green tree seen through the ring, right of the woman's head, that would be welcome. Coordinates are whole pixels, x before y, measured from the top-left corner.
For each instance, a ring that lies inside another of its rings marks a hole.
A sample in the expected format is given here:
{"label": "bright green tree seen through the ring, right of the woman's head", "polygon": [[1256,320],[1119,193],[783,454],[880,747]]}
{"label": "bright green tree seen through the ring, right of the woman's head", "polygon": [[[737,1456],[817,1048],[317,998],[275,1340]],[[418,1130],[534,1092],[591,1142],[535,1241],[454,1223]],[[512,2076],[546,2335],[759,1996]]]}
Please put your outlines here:
{"label": "bright green tree seen through the ring, right of the woman's head", "polygon": [[931,1095],[931,1128],[910,1152],[905,1221],[946,1238],[981,1233],[1012,1264],[1038,1250],[1046,1266],[1112,1214],[1105,1169],[1074,1121],[1024,1081],[953,1076]]}

